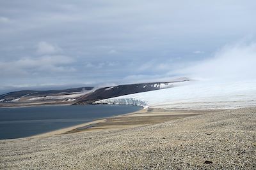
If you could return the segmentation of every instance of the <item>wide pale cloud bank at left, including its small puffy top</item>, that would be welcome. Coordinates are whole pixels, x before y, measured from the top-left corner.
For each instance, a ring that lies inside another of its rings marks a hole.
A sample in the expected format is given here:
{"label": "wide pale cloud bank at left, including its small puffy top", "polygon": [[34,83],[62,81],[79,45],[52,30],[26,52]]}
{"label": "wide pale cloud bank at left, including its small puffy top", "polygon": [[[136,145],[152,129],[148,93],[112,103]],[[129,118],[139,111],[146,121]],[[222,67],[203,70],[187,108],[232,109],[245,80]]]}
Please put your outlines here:
{"label": "wide pale cloud bank at left, including its small puffy top", "polygon": [[59,55],[61,48],[57,45],[51,45],[45,41],[38,43],[36,52],[40,55],[34,57],[20,57],[15,60],[0,60],[0,67],[2,69],[1,77],[23,76],[33,78],[33,76],[49,76],[71,73],[76,69],[71,66],[74,63],[72,57],[66,55]]}

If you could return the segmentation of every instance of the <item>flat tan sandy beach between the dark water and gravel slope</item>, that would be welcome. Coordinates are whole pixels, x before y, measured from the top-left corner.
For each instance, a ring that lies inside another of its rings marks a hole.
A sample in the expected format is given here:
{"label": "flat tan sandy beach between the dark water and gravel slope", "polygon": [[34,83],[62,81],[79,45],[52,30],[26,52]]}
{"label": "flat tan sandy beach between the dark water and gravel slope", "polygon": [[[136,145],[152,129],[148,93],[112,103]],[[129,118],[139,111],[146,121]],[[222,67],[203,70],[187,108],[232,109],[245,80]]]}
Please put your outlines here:
{"label": "flat tan sandy beach between the dark water and gravel slope", "polygon": [[120,129],[129,129],[132,127],[142,127],[145,125],[159,124],[168,122],[170,120],[177,120],[186,117],[193,117],[196,115],[204,115],[205,113],[218,112],[222,110],[148,110],[143,108],[132,113],[125,113],[112,117],[99,118],[84,124],[74,125],[56,131],[37,134],[28,138],[49,137],[63,134],[72,134],[79,132],[102,132],[114,131]]}

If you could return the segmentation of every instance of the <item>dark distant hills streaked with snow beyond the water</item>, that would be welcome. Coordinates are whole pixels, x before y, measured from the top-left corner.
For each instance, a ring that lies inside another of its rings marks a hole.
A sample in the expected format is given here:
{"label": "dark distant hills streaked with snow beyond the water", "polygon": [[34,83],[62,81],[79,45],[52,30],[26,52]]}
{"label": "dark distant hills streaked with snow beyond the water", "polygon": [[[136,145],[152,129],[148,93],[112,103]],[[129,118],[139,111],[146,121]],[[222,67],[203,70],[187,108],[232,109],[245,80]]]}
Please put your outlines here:
{"label": "dark distant hills streaked with snow beyond the water", "polygon": [[34,106],[46,104],[93,104],[101,99],[136,94],[152,90],[166,89],[179,85],[180,82],[189,81],[181,79],[170,82],[136,83],[103,87],[80,87],[65,90],[22,90],[0,95],[0,107]]}

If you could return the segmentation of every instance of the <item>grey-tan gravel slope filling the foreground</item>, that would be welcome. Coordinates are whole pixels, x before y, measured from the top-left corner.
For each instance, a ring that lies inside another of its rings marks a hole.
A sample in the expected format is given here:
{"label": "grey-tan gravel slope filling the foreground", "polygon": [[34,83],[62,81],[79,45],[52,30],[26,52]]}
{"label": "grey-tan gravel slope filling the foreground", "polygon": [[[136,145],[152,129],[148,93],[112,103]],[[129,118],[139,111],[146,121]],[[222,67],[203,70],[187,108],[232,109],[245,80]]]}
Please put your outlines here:
{"label": "grey-tan gravel slope filling the foreground", "polygon": [[[0,169],[256,169],[256,108],[0,141]],[[207,164],[208,163],[208,164]]]}

